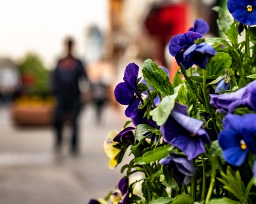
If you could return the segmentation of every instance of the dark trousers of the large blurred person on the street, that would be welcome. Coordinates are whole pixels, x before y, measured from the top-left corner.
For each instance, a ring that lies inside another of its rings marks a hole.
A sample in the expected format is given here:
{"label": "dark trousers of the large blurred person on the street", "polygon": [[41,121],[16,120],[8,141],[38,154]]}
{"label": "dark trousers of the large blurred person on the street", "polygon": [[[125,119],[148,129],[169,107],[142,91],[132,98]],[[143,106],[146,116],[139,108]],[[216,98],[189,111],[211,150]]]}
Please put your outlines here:
{"label": "dark trousers of the large blurred person on the street", "polygon": [[54,129],[56,130],[56,149],[62,146],[63,123],[66,119],[70,120],[72,127],[72,137],[70,141],[70,150],[72,153],[78,151],[78,115],[80,111],[79,97],[56,96],[57,105],[54,111]]}

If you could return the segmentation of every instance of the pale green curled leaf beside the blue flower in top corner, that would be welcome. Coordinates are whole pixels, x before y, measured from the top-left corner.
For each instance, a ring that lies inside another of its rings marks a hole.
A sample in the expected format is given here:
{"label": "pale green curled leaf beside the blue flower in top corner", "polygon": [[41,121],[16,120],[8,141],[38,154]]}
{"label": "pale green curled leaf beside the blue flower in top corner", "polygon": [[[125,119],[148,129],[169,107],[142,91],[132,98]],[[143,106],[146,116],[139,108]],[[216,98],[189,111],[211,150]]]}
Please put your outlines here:
{"label": "pale green curled leaf beside the blue flower in top corner", "polygon": [[212,10],[219,13],[219,18],[217,19],[217,25],[220,31],[227,34],[228,29],[231,27],[234,21],[232,16],[229,14],[229,12],[225,12],[223,8],[221,8],[220,6],[215,6],[212,8]]}

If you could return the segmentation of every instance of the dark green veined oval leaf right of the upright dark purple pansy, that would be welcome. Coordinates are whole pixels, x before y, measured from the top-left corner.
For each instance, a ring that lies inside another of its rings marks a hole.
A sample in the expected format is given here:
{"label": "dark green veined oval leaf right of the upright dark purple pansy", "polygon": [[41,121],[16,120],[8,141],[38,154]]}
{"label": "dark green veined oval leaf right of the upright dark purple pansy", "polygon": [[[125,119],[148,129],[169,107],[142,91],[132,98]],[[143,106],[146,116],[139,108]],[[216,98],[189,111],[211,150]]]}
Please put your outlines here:
{"label": "dark green veined oval leaf right of the upright dark purple pansy", "polygon": [[144,61],[142,65],[142,73],[147,83],[150,84],[156,92],[162,96],[169,96],[174,93],[172,84],[165,71],[157,66],[151,59]]}

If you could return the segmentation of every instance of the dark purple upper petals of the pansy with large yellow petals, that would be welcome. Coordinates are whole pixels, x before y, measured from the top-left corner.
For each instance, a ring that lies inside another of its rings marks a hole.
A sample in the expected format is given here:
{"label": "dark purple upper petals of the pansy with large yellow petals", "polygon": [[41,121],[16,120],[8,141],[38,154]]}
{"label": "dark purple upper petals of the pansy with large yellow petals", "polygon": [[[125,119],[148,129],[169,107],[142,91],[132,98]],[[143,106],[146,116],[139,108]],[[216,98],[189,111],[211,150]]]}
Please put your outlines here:
{"label": "dark purple upper petals of the pansy with large yellow petals", "polygon": [[113,141],[118,142],[120,144],[126,143],[126,144],[134,144],[134,134],[133,130],[134,127],[127,127],[124,128],[120,133],[117,134],[116,137],[114,137]]}

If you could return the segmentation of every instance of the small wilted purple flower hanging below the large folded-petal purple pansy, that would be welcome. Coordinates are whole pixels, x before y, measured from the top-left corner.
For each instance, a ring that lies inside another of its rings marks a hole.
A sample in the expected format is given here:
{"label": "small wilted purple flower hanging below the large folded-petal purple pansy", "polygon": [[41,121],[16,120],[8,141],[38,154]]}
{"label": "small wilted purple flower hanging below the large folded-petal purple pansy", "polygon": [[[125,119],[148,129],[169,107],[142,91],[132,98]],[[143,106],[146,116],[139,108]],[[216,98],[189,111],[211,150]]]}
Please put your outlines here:
{"label": "small wilted purple flower hanging below the large folded-petal purple pansy", "polygon": [[167,166],[168,171],[173,172],[174,177],[184,185],[190,183],[191,176],[195,173],[193,162],[184,155],[170,153],[169,157],[161,159],[159,163]]}

